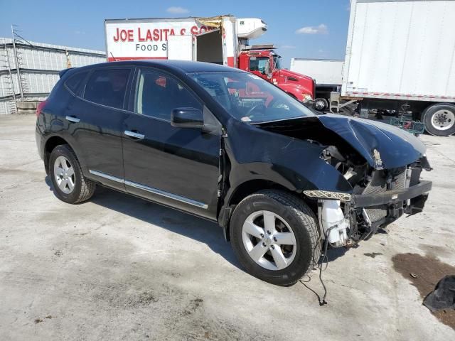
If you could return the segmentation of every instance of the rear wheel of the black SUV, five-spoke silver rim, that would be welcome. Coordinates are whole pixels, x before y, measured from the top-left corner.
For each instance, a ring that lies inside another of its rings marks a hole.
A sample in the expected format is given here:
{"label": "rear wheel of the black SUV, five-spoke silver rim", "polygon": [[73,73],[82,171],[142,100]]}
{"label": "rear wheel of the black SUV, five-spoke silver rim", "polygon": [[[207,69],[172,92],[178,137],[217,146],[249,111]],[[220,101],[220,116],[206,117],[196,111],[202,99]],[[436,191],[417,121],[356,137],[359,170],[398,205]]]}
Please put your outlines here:
{"label": "rear wheel of the black SUV, five-spoke silver rim", "polygon": [[95,183],[82,175],[79,161],[68,144],[56,146],[50,153],[49,176],[55,196],[69,204],[89,200],[95,192]]}

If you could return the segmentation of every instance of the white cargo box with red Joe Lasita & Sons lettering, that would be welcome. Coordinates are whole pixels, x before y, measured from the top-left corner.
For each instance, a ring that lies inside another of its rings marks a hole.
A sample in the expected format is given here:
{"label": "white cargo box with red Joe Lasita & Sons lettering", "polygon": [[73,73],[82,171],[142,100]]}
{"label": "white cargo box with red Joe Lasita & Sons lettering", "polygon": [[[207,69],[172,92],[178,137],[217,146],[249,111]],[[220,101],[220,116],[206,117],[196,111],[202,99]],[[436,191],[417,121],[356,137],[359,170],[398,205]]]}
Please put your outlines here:
{"label": "white cargo box with red Joe Lasita & Sons lettering", "polygon": [[[220,33],[223,31],[223,33]],[[237,66],[237,21],[197,18],[108,19],[107,60],[179,59]]]}

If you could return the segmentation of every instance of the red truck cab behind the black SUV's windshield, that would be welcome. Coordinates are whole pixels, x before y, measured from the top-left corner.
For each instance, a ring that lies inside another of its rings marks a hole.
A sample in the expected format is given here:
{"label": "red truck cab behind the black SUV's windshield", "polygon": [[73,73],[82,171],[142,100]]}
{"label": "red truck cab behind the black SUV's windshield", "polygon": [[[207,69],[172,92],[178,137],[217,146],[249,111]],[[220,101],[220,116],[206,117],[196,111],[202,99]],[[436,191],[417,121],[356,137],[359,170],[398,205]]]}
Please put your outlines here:
{"label": "red truck cab behind the black SUV's windshield", "polygon": [[277,85],[300,102],[313,100],[316,90],[313,78],[282,69],[280,60],[281,56],[271,48],[247,49],[240,52],[238,68]]}

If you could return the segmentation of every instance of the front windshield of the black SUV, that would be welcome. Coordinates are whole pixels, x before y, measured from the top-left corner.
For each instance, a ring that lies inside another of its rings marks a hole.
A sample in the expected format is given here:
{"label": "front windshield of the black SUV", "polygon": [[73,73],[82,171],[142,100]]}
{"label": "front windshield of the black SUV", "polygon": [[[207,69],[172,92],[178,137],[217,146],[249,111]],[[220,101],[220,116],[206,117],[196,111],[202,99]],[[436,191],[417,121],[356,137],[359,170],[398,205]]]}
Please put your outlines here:
{"label": "front windshield of the black SUV", "polygon": [[259,123],[314,116],[278,87],[247,72],[189,74],[235,119]]}

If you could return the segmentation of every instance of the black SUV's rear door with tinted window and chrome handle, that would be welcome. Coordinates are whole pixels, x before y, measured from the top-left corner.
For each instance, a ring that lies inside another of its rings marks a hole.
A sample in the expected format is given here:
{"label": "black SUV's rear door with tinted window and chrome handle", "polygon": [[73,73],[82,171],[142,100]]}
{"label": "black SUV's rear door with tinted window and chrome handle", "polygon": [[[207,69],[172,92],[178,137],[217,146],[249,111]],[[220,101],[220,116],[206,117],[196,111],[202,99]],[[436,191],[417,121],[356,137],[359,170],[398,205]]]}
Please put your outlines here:
{"label": "black SUV's rear door with tinted window and chrome handle", "polygon": [[131,67],[92,70],[65,117],[73,125],[84,173],[119,189],[124,189],[122,133],[130,75]]}

